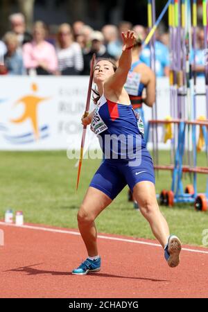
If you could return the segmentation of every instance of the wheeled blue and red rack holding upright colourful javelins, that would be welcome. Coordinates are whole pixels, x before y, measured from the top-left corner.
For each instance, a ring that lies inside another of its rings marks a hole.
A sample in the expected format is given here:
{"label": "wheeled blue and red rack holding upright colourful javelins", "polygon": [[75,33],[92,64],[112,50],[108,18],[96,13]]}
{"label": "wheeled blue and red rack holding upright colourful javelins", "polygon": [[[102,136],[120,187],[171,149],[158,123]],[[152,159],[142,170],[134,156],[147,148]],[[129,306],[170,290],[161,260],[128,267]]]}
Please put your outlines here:
{"label": "wheeled blue and red rack holding upright colourful javelins", "polygon": [[[207,49],[207,9],[208,0],[202,1],[203,26],[205,31],[205,49]],[[151,8],[151,9],[150,9]],[[155,0],[148,1],[148,23],[155,18]],[[148,121],[146,140],[149,139],[150,128],[153,128],[153,155],[157,155],[157,126],[171,124],[173,139],[171,139],[171,165],[159,165],[154,159],[155,170],[171,171],[171,190],[162,190],[159,196],[161,205],[173,206],[176,202],[194,203],[196,210],[208,209],[208,178],[205,193],[198,193],[198,174],[208,174],[208,168],[197,166],[197,140],[196,132],[200,131],[205,138],[205,153],[208,158],[208,64],[205,64],[205,92],[196,92],[196,73],[192,73],[190,53],[193,51],[194,62],[196,53],[196,27],[198,26],[196,0],[172,0],[168,7],[168,23],[170,32],[170,101],[171,120],[157,119],[157,108],[153,111],[153,119]],[[192,34],[193,31],[193,40]],[[150,43],[154,46],[154,37]],[[152,48],[153,50],[153,48]],[[152,54],[152,64],[154,53]],[[154,69],[154,65],[152,65]],[[205,121],[197,120],[196,98],[205,96]],[[157,105],[155,105],[157,107]],[[155,137],[154,137],[155,136]],[[183,175],[188,173],[193,181],[183,186]]]}

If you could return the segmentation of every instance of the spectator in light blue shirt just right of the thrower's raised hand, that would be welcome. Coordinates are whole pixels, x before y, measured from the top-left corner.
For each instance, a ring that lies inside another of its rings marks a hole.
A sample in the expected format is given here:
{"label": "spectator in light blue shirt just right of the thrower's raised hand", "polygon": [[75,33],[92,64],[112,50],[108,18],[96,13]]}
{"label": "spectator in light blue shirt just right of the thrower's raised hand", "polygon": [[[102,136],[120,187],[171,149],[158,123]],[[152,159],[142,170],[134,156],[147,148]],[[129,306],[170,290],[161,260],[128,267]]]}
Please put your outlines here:
{"label": "spectator in light blue shirt just right of the thrower's raised hand", "polygon": [[[155,31],[155,74],[157,77],[169,76],[169,51],[168,47],[159,42],[159,33]],[[141,62],[144,62],[150,67],[150,48],[146,46],[140,55]]]}

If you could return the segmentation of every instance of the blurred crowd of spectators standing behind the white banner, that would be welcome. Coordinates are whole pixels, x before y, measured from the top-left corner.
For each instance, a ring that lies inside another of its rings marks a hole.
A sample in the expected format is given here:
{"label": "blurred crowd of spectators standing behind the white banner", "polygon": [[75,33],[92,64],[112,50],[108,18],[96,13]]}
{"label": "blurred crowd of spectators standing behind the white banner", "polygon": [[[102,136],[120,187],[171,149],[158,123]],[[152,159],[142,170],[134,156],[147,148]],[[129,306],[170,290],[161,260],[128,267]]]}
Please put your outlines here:
{"label": "blurred crowd of spectators standing behind the white banner", "polygon": [[[43,21],[36,21],[32,33],[26,31],[24,15],[10,15],[10,31],[0,40],[1,75],[89,75],[90,60],[96,57],[119,59],[122,49],[121,32],[132,29],[141,40],[148,29],[121,21],[118,26],[107,24],[101,31],[83,21],[73,25],[61,24],[51,33]],[[202,62],[203,33],[198,30],[196,60]],[[157,76],[168,76],[169,35],[156,32],[155,71]],[[141,62],[150,66],[148,46],[139,55]],[[198,62],[196,62],[196,65]],[[199,64],[200,66],[200,64]]]}

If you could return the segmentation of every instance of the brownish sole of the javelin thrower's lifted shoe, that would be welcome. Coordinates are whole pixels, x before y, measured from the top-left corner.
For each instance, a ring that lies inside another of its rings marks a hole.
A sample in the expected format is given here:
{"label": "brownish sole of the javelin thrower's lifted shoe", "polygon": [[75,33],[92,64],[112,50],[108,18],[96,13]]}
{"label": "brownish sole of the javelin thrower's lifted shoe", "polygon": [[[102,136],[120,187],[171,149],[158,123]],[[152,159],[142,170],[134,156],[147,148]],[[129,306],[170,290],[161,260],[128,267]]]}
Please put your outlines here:
{"label": "brownish sole of the javelin thrower's lifted shoe", "polygon": [[180,251],[182,249],[182,245],[180,240],[173,236],[168,242],[168,252],[170,257],[168,259],[168,266],[171,268],[175,268],[180,263]]}

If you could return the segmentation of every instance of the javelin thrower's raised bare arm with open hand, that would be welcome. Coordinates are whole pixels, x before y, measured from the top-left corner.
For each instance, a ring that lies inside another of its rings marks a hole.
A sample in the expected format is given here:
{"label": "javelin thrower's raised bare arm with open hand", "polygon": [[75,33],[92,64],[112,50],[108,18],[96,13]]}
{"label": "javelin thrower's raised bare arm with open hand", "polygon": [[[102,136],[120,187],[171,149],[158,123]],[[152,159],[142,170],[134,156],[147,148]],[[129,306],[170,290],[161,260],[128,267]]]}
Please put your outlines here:
{"label": "javelin thrower's raised bare arm with open hand", "polygon": [[132,64],[132,46],[135,43],[135,32],[128,31],[122,33],[123,37],[123,51],[119,58],[119,67],[116,69],[114,75],[112,75],[105,82],[105,91],[121,92],[123,85],[125,85],[128,72],[130,71]]}

